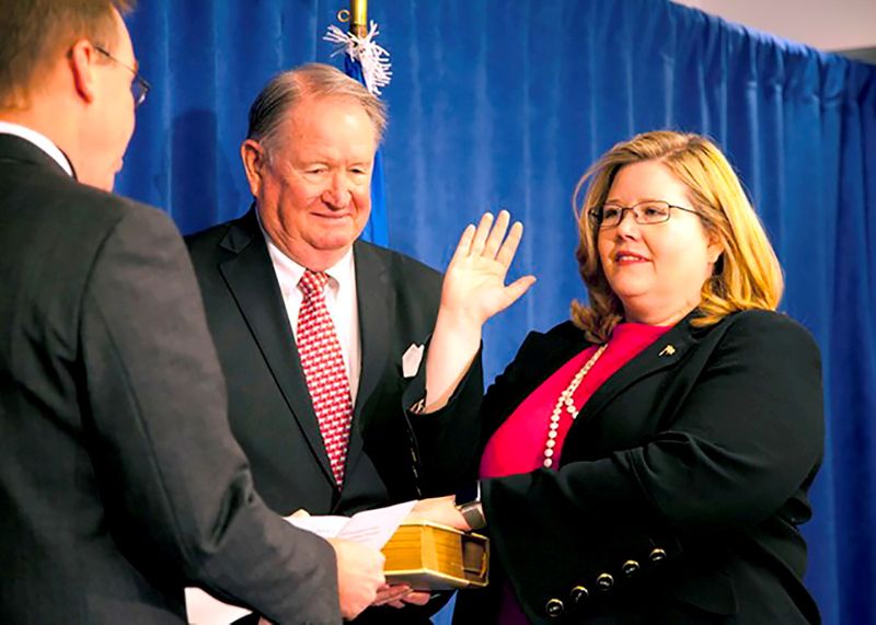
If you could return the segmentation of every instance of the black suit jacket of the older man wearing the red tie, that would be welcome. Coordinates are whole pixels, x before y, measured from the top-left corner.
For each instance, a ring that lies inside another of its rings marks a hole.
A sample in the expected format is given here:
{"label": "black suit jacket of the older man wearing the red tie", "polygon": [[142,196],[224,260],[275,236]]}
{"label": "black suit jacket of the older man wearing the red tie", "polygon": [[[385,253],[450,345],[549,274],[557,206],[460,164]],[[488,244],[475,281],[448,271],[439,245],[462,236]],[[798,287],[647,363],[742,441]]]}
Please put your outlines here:
{"label": "black suit jacket of the older man wearing the red tie", "polygon": [[402,371],[402,355],[435,325],[440,274],[354,244],[362,364],[338,490],[255,209],[186,242],[228,379],[231,428],[274,510],[351,514],[459,487],[476,453],[476,410],[461,408],[481,400],[480,356],[450,404],[430,415],[406,409],[425,395],[425,356],[416,378]]}

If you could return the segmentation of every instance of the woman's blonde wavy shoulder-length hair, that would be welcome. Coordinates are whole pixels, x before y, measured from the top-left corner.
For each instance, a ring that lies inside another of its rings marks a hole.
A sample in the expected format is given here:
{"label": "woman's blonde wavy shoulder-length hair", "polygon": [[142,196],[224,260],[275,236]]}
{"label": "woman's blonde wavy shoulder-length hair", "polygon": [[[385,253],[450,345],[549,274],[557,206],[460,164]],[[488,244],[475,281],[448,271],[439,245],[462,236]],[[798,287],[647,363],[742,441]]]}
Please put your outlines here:
{"label": "woman's blonde wavy shoulder-length hair", "polygon": [[579,234],[576,257],[589,297],[589,305],[572,302],[575,325],[589,340],[604,343],[623,319],[621,300],[602,270],[597,247],[599,225],[590,211],[604,204],[622,167],[643,161],[662,163],[688,187],[706,233],[723,247],[712,277],[703,283],[700,314],[692,324],[713,325],[742,310],[775,310],[784,288],[782,268],[733,166],[705,137],[657,130],[614,146],[575,187],[572,201]]}

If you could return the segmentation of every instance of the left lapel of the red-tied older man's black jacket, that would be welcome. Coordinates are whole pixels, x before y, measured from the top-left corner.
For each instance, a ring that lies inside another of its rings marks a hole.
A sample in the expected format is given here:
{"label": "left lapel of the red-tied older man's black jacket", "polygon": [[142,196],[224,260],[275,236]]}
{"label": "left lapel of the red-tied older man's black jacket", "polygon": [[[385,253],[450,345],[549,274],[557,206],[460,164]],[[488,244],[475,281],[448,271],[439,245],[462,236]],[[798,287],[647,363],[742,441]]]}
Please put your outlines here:
{"label": "left lapel of the red-tied older man's black jacket", "polygon": [[[221,263],[219,270],[313,455],[326,479],[334,484],[286,305],[254,208],[231,225],[220,245],[233,256]],[[284,420],[286,415],[272,418]]]}

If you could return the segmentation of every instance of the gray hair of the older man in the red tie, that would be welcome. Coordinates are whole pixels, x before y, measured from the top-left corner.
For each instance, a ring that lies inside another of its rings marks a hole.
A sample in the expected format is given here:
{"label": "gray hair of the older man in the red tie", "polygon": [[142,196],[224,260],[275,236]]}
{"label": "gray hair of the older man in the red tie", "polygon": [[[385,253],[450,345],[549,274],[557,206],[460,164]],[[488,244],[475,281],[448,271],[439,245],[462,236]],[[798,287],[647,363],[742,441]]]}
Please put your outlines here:
{"label": "gray hair of the older man in the red tie", "polygon": [[289,112],[303,100],[320,97],[351,97],[358,102],[371,119],[380,143],[387,128],[387,106],[360,82],[324,63],[302,65],[272,78],[250,107],[246,138],[261,142],[269,153]]}

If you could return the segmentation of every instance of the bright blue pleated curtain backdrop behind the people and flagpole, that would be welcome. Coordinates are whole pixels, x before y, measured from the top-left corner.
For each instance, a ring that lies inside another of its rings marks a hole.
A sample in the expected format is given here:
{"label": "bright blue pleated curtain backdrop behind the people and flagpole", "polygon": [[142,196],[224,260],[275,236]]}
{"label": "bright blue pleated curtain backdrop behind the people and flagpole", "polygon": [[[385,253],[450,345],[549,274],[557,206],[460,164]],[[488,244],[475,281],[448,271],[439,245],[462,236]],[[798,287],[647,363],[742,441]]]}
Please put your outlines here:
{"label": "bright blue pleated curtain backdrop behind the people and flagpole", "polygon": [[[281,69],[342,62],[321,39],[343,4],[141,0],[131,33],[154,90],[118,190],[184,232],[241,215],[247,107]],[[394,66],[390,246],[441,268],[482,211],[526,223],[515,273],[539,282],[487,327],[491,378],[528,329],[584,294],[569,196],[588,164],[654,128],[723,144],[784,265],[783,310],[823,356],[808,585],[827,623],[876,623],[876,67],[662,0],[371,0],[370,11]]]}

